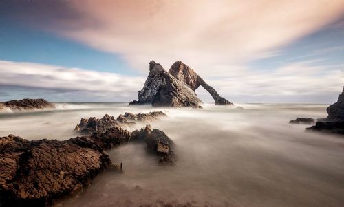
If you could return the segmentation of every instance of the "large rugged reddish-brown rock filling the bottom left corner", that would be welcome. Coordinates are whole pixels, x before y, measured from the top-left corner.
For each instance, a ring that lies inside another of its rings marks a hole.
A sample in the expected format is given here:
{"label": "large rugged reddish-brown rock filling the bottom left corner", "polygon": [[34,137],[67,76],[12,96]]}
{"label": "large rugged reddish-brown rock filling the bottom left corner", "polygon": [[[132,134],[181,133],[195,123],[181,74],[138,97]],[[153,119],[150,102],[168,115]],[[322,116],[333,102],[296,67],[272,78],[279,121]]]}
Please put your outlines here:
{"label": "large rugged reddish-brown rock filling the bottom left corner", "polygon": [[89,138],[28,141],[0,138],[0,206],[46,206],[80,190],[111,165]]}

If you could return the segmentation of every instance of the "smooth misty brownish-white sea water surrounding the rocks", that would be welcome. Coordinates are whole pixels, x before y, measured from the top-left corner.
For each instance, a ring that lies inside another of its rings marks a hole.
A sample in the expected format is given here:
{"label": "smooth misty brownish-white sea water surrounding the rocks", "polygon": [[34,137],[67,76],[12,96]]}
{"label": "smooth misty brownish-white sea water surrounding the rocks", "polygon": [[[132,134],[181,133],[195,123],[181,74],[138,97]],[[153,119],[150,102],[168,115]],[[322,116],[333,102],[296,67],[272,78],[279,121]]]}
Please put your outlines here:
{"label": "smooth misty brownish-white sea water surrounding the rocks", "polygon": [[[245,109],[160,109],[168,110],[169,118],[151,126],[177,145],[176,166],[159,166],[143,144],[120,146],[109,154],[123,162],[124,173],[102,173],[83,194],[56,206],[344,205],[344,138],[288,124],[298,116],[323,118],[327,105],[241,106]],[[80,118],[125,111],[153,109],[67,104],[57,111],[6,113],[0,115],[0,135],[63,140],[74,136]]]}

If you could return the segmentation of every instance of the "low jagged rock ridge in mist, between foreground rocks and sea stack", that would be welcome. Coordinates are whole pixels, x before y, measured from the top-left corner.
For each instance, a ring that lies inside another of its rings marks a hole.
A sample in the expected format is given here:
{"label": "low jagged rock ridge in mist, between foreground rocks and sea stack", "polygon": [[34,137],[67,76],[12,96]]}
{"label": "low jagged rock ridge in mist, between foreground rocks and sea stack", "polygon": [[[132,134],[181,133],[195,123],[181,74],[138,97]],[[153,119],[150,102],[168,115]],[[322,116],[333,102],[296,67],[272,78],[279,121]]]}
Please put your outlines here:
{"label": "low jagged rock ridge in mist, between foreground rocks and sea stack", "polygon": [[135,125],[135,122],[152,122],[159,120],[159,118],[167,116],[162,111],[153,111],[149,113],[125,113],[120,114],[118,118],[105,114],[103,118],[81,118],[80,124],[76,125],[74,131],[82,134],[105,133],[107,129],[116,127],[130,127]]}

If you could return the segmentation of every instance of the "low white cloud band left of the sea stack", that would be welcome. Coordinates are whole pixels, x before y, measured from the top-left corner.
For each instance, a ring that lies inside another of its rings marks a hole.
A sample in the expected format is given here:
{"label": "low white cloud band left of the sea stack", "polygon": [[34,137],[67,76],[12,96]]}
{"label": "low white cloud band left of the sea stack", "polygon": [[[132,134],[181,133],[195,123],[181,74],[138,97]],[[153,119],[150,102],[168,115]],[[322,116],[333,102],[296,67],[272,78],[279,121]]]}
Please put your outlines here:
{"label": "low white cloud band left of the sea stack", "polygon": [[[87,98],[91,101],[92,98],[118,101],[130,100],[137,96],[137,91],[143,83],[144,78],[137,76],[122,76],[38,63],[0,61],[1,89],[5,89],[3,86],[12,87],[12,90],[13,87],[21,90],[26,88],[27,91],[40,91],[40,94],[44,94],[41,91],[44,89],[45,93],[50,91],[59,97],[61,94],[72,93],[78,94],[80,100],[85,100],[83,96],[88,94]],[[61,100],[65,101],[66,97],[62,96]]]}

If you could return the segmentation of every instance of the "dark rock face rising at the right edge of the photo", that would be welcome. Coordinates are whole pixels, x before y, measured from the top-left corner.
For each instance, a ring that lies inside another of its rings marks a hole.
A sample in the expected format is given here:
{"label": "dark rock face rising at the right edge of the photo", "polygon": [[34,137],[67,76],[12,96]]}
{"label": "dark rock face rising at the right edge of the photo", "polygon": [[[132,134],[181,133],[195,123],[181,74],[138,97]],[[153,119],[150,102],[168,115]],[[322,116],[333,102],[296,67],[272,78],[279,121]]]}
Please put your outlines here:
{"label": "dark rock face rising at the right edge of the photo", "polygon": [[338,101],[327,107],[326,111],[328,113],[327,118],[319,120],[307,130],[344,134],[344,88]]}

